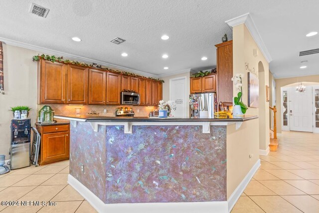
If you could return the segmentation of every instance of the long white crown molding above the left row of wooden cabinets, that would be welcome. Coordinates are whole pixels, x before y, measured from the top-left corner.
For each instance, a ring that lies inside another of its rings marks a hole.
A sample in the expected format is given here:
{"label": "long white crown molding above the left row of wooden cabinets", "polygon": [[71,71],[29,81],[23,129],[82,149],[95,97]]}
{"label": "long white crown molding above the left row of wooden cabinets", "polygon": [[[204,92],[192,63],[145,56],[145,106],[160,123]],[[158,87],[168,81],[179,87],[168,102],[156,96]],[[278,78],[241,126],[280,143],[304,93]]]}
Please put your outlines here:
{"label": "long white crown molding above the left row of wooden cabinets", "polygon": [[114,64],[103,62],[103,61],[94,60],[94,59],[91,59],[91,58],[77,56],[77,55],[69,54],[69,53],[66,53],[66,52],[60,52],[60,51],[57,51],[57,50],[48,49],[48,48],[36,46],[36,45],[33,45],[33,44],[23,43],[23,42],[20,42],[20,41],[15,41],[15,40],[3,38],[3,37],[0,37],[0,41],[2,41],[4,44],[17,46],[17,47],[22,47],[22,48],[26,48],[26,49],[31,49],[31,50],[42,52],[42,53],[45,53],[45,54],[52,54],[52,55],[57,55],[57,56],[61,55],[64,58],[67,58],[67,59],[79,60],[79,61],[83,61],[83,62],[87,62],[87,63],[88,62],[89,63],[97,63],[99,65],[106,66],[106,67],[111,68],[111,69],[120,69],[120,70],[123,70],[123,71],[134,72],[136,74],[143,75],[143,76],[146,76],[146,77],[154,77],[154,78],[158,78],[159,77],[159,75],[154,75],[154,74],[151,74],[151,73],[147,73],[147,72],[143,72],[143,71],[139,71],[139,70],[135,70],[135,69],[130,69],[130,68],[123,67],[123,66],[114,65]]}

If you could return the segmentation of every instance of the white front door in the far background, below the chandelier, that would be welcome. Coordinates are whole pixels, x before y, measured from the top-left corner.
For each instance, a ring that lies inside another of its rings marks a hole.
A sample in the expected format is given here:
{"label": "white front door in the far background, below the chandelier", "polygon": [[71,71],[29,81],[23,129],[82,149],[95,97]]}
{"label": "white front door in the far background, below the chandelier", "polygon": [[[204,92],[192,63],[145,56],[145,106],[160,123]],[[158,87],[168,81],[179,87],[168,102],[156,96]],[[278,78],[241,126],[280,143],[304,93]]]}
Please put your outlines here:
{"label": "white front door in the far background, below the chandelier", "polygon": [[290,130],[313,132],[313,88],[306,87],[305,92],[290,89]]}

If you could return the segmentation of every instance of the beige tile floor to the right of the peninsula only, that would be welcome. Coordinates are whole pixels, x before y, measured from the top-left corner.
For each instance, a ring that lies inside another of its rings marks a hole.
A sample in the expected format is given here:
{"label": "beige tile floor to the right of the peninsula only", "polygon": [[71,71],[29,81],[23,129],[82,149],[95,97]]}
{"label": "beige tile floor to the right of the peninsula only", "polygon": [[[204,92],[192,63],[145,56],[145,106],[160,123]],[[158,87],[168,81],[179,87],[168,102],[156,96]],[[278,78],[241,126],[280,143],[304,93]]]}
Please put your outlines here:
{"label": "beige tile floor to the right of the peninsula only", "polygon": [[319,213],[319,134],[283,132],[232,213]]}

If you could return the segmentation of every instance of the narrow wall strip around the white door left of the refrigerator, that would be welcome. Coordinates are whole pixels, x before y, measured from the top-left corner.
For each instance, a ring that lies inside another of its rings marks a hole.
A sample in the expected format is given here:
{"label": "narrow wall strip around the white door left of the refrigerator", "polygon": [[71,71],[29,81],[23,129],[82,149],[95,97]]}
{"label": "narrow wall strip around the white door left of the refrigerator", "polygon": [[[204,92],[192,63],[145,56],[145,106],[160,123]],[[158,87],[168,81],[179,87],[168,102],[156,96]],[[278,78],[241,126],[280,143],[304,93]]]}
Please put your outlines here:
{"label": "narrow wall strip around the white door left of the refrigerator", "polygon": [[[178,78],[178,77],[186,77],[186,91],[187,91],[187,97],[189,97],[189,93],[190,93],[190,81],[189,81],[189,76],[190,76],[190,72],[186,72],[186,73],[181,73],[181,74],[176,74],[176,75],[170,75],[170,76],[166,76],[166,77],[162,77],[161,79],[164,80],[165,82],[163,83],[163,100],[164,101],[168,101],[169,100],[169,79],[173,79],[173,78]],[[186,101],[186,115],[187,117],[189,116],[189,104],[188,104],[188,99],[185,100]]]}

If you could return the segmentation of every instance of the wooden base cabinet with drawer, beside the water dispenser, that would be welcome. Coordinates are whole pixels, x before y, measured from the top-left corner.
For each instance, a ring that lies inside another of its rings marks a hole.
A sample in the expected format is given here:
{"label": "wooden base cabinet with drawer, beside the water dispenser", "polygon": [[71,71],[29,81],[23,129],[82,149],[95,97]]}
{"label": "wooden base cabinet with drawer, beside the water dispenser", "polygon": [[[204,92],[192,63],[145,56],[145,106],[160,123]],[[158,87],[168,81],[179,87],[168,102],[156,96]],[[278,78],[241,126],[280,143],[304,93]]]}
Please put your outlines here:
{"label": "wooden base cabinet with drawer, beside the water dispenser", "polygon": [[70,124],[41,125],[36,123],[41,135],[39,164],[49,164],[69,159]]}

